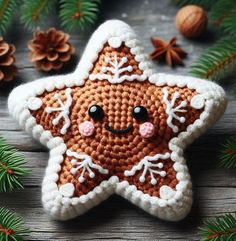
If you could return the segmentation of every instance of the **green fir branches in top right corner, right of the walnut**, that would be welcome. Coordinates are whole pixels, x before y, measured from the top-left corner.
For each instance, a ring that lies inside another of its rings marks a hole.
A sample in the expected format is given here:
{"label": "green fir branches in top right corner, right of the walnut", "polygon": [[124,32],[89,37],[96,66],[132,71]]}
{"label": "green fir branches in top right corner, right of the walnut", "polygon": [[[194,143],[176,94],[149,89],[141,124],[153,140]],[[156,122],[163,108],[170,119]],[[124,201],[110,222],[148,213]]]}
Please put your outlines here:
{"label": "green fir branches in top right corner, right of the walnut", "polygon": [[219,40],[190,66],[193,76],[219,81],[236,66],[236,1],[174,0],[178,6],[196,4],[208,11],[210,26],[218,30]]}

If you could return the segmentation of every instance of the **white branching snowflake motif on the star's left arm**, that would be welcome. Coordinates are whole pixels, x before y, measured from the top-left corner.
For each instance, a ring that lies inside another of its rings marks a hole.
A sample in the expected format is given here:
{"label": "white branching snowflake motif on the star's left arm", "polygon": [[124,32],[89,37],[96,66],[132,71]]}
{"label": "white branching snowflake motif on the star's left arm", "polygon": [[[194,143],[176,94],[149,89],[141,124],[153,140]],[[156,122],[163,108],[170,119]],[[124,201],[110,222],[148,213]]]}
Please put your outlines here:
{"label": "white branching snowflake motif on the star's left arm", "polygon": [[58,125],[59,121],[61,120],[61,118],[64,118],[65,120],[65,124],[63,125],[63,127],[60,130],[60,133],[62,135],[65,135],[67,132],[67,129],[70,127],[70,118],[69,118],[69,114],[70,114],[70,107],[72,104],[72,97],[71,97],[71,92],[72,90],[70,88],[67,88],[65,93],[66,93],[66,103],[64,104],[61,100],[61,95],[60,94],[55,94],[54,98],[58,101],[58,103],[60,104],[60,107],[58,108],[53,108],[53,107],[47,107],[46,108],[46,112],[47,113],[52,113],[55,111],[59,111],[60,113],[58,114],[58,116],[56,118],[54,118],[52,120],[52,124],[53,125]]}

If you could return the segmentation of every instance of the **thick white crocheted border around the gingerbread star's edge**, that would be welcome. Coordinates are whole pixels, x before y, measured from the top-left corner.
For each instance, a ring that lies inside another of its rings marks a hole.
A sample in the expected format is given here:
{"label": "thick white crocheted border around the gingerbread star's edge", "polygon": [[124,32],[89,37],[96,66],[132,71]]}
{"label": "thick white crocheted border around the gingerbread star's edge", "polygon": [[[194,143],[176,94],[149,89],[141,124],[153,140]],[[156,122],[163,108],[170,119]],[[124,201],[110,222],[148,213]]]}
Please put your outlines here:
{"label": "thick white crocheted border around the gingerbread star's edge", "polygon": [[[200,118],[189,125],[185,132],[180,133],[169,142],[169,149],[172,151],[171,159],[175,162],[173,167],[179,183],[176,185],[176,191],[163,186],[160,189],[160,198],[144,194],[134,185],[129,185],[127,181],[119,182],[116,176],[103,181],[93,191],[80,197],[70,197],[69,189],[58,190],[56,182],[66,145],[62,138],[52,137],[50,131],[44,130],[41,125],[38,125],[29,111],[29,108],[40,106],[38,101],[35,101],[37,106],[32,106],[29,99],[41,95],[44,91],[51,92],[65,87],[82,86],[89,76],[89,71],[92,69],[98,53],[110,39],[114,45],[118,46],[122,41],[130,48],[139,63],[139,68],[151,83],[157,86],[186,86],[189,89],[195,89],[198,95],[191,100],[191,105],[196,109],[204,107]],[[113,41],[114,39],[116,42]],[[192,77],[156,74],[152,63],[147,59],[140,45],[137,36],[127,24],[119,20],[107,21],[91,37],[74,73],[42,78],[24,84],[15,88],[9,96],[10,113],[18,120],[22,128],[50,150],[46,175],[42,183],[42,202],[46,211],[54,219],[67,220],[81,215],[113,193],[123,196],[148,213],[165,220],[178,221],[184,218],[191,209],[192,185],[183,150],[223,114],[226,107],[226,96],[223,89],[212,82]]]}

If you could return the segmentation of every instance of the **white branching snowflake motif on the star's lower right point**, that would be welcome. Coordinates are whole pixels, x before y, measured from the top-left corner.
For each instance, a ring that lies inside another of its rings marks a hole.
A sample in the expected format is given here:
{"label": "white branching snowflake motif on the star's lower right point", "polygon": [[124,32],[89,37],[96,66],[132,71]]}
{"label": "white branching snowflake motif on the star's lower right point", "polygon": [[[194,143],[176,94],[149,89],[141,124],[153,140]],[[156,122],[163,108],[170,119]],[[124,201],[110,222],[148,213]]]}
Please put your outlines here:
{"label": "white branching snowflake motif on the star's lower right point", "polygon": [[157,184],[157,178],[154,177],[153,174],[160,175],[161,177],[165,177],[167,174],[165,171],[158,171],[153,168],[162,169],[164,167],[162,162],[156,162],[159,159],[169,159],[170,153],[166,152],[165,154],[156,154],[155,156],[145,156],[137,165],[134,165],[131,170],[126,170],[124,175],[126,177],[134,176],[135,173],[143,168],[142,175],[139,177],[140,182],[145,182],[147,172],[151,175],[151,184]]}

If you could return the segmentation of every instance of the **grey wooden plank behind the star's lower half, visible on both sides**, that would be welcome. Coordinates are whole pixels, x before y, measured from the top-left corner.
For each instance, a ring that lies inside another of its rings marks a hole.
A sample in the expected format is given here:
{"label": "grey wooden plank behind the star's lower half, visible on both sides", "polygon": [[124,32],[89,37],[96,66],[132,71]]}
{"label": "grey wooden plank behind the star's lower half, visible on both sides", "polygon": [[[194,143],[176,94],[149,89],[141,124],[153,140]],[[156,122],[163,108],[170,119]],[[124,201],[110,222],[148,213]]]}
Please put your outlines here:
{"label": "grey wooden plank behind the star's lower half, visible on both sides", "polygon": [[[215,148],[214,148],[215,149]],[[216,153],[208,148],[191,146],[187,151],[187,164],[194,187],[236,187],[234,170],[219,168]],[[41,187],[41,182],[48,163],[48,152],[20,152],[28,161],[27,167],[32,170],[24,178],[26,187]]]}

